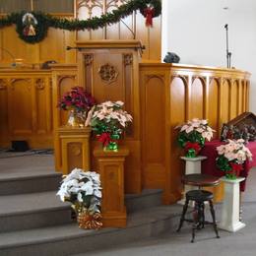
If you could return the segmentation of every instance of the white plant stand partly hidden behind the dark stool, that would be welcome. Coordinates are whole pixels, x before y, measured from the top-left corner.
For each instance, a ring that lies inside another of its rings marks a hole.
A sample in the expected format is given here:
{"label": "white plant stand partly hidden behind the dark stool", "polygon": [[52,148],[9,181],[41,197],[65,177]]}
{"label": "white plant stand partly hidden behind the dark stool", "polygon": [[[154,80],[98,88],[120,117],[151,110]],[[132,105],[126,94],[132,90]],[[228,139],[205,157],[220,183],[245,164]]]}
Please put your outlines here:
{"label": "white plant stand partly hidden behind the dark stool", "polygon": [[[185,175],[187,174],[200,174],[201,173],[201,162],[202,160],[206,160],[207,157],[199,156],[196,158],[186,158],[180,157],[181,160],[186,161],[185,165]],[[198,189],[198,187],[185,185],[182,199],[177,202],[177,204],[184,205],[185,204],[185,195],[189,190]],[[192,207],[192,205],[190,205]]]}

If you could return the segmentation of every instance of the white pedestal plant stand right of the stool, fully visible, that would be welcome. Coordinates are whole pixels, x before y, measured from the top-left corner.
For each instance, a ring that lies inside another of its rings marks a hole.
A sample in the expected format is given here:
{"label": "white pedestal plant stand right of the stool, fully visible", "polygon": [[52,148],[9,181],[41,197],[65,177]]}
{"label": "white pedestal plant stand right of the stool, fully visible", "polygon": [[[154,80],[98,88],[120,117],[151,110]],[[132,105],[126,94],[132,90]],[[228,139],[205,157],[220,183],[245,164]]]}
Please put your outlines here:
{"label": "white pedestal plant stand right of the stool, fully visible", "polygon": [[240,210],[240,182],[245,178],[238,177],[236,179],[227,179],[222,177],[224,181],[224,205],[222,211],[222,221],[218,225],[219,228],[229,232],[235,232],[245,224],[239,221]]}

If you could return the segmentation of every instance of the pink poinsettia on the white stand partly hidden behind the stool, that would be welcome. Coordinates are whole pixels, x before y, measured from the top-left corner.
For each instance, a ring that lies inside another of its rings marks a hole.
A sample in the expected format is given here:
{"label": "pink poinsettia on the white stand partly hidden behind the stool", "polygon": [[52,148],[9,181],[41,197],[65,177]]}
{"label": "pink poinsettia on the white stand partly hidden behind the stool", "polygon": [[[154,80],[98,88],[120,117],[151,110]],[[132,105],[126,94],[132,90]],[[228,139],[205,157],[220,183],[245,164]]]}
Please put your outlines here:
{"label": "pink poinsettia on the white stand partly hidden behind the stool", "polygon": [[188,158],[195,158],[205,145],[205,141],[211,141],[213,130],[205,119],[193,118],[186,123],[177,126],[178,144],[185,150]]}

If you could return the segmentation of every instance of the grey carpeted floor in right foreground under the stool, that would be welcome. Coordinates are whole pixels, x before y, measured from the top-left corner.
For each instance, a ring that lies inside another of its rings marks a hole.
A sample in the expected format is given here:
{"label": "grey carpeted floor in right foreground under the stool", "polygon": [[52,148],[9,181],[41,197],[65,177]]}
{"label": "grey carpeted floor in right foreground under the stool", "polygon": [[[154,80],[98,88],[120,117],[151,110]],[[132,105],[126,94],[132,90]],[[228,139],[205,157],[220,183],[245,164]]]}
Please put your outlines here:
{"label": "grey carpeted floor in right foreground under the stool", "polygon": [[[216,206],[217,218],[222,204]],[[93,253],[76,256],[255,256],[256,255],[256,168],[252,169],[243,194],[243,222],[246,226],[235,232],[220,231],[215,238],[211,226],[196,233],[196,242],[190,243],[191,226],[186,224],[179,233],[170,231],[161,236],[129,243],[112,249],[101,248]]]}

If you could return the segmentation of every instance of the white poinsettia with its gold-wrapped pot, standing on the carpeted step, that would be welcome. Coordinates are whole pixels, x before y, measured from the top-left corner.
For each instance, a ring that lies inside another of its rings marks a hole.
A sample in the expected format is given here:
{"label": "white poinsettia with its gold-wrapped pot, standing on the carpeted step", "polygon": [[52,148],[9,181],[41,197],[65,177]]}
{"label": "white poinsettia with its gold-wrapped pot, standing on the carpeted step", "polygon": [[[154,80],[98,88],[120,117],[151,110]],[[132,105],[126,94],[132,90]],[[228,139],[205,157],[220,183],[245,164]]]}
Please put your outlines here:
{"label": "white poinsettia with its gold-wrapped pot, standing on the carpeted step", "polygon": [[98,173],[80,168],[73,169],[62,180],[57,195],[61,201],[71,202],[80,227],[101,227],[101,187]]}

